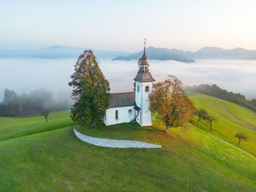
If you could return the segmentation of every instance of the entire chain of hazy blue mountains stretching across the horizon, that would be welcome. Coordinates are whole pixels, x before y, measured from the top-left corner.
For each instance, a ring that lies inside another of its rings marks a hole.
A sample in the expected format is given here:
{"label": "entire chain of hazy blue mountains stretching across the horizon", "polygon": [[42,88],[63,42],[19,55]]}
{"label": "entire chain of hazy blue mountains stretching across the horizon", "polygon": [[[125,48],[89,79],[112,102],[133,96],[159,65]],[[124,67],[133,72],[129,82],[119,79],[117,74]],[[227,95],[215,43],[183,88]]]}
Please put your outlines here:
{"label": "entire chain of hazy blue mountains stretching across the horizon", "polygon": [[[78,58],[83,53],[83,50],[88,50],[88,48],[53,45],[41,49],[0,49],[0,58]],[[138,60],[143,55],[142,51],[136,53],[110,50],[93,51],[97,58],[113,58],[113,60]],[[197,52],[192,52],[148,47],[146,53],[148,59],[173,60],[184,63],[192,63],[195,62],[194,59],[200,58],[256,60],[256,50],[246,50],[244,48],[225,50],[220,47],[203,47]]]}

